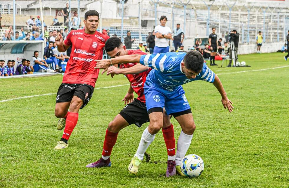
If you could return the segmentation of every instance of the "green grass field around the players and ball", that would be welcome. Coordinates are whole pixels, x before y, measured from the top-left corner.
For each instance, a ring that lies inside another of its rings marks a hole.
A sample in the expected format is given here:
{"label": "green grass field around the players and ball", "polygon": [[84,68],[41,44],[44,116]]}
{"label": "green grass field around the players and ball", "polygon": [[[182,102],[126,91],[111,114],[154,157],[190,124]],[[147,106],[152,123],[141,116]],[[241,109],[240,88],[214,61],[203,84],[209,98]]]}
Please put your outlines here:
{"label": "green grass field around the players and ball", "polygon": [[[187,154],[202,157],[200,177],[165,177],[161,132],[147,150],[151,160],[141,164],[137,175],[128,173],[148,123],[119,132],[110,168],[85,167],[101,157],[106,127],[124,107],[125,85],[94,91],[80,110],[69,147],[60,151],[53,149],[63,134],[56,129],[56,95],[0,102],[0,187],[289,187],[289,61],[281,53],[242,55],[239,60],[252,67],[211,67],[234,103],[231,114],[213,84],[183,85],[196,122]],[[287,67],[272,69],[280,66]],[[252,71],[260,69],[267,70]],[[56,93],[61,80],[62,75],[0,79],[0,100]],[[128,83],[123,75],[100,75],[96,88]],[[181,129],[171,121],[177,140]]]}

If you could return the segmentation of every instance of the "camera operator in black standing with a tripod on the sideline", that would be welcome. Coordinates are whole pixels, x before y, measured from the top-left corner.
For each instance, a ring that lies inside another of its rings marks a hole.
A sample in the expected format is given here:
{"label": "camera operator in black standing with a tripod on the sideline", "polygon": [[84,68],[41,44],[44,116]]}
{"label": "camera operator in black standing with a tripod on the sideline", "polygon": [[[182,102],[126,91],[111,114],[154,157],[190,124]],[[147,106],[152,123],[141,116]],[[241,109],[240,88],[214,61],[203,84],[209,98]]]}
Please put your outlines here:
{"label": "camera operator in black standing with a tripod on the sideline", "polygon": [[[238,46],[239,46],[239,33],[237,30],[231,31],[229,35],[229,56],[230,56],[230,62],[227,67],[231,67],[232,59],[234,59],[233,67],[235,67],[235,63],[237,62],[238,59]],[[234,54],[233,54],[234,53]]]}

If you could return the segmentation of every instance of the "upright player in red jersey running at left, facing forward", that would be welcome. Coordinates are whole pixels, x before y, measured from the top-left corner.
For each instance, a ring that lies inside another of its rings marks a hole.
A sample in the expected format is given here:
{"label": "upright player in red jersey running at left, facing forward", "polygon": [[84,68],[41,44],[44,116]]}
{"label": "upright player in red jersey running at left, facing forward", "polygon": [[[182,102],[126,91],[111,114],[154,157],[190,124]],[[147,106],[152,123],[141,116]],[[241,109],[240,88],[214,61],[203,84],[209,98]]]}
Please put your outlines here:
{"label": "upright player in red jersey running at left, facing forward", "polygon": [[72,45],[70,59],[60,85],[55,104],[55,116],[61,118],[57,128],[64,128],[63,136],[55,149],[68,147],[68,139],[78,121],[78,111],[84,108],[92,97],[99,69],[95,61],[102,59],[107,35],[96,31],[99,14],[95,10],[84,15],[84,29],[73,30],[63,41],[60,34],[55,38],[59,52],[65,52]]}

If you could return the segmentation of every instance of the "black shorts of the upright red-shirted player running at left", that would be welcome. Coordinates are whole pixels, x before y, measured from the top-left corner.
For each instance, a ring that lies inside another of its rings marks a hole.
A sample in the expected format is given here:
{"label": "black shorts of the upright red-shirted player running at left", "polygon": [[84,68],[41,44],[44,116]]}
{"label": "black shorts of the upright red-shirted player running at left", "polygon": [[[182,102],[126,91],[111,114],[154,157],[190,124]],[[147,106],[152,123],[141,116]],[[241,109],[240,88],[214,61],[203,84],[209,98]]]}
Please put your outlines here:
{"label": "black shorts of the upright red-shirted player running at left", "polygon": [[84,108],[92,97],[94,88],[87,84],[70,84],[62,83],[56,94],[56,103],[64,103],[72,100],[73,96],[77,96],[83,101],[80,109]]}

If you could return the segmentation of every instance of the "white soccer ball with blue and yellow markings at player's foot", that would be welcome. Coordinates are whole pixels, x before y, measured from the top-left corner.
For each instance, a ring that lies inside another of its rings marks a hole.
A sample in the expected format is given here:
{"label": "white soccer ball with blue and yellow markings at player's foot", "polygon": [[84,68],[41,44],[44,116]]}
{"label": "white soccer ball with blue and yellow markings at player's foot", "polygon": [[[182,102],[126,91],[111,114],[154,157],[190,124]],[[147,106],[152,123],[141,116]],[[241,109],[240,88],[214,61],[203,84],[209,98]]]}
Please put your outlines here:
{"label": "white soccer ball with blue and yellow markings at player's foot", "polygon": [[183,158],[180,167],[185,176],[198,177],[204,170],[204,162],[200,156],[191,154]]}

